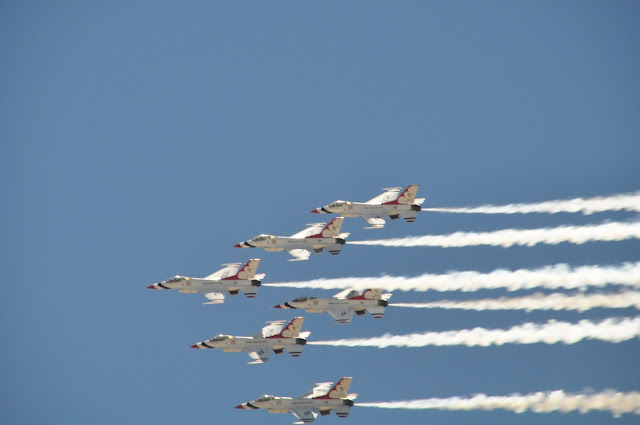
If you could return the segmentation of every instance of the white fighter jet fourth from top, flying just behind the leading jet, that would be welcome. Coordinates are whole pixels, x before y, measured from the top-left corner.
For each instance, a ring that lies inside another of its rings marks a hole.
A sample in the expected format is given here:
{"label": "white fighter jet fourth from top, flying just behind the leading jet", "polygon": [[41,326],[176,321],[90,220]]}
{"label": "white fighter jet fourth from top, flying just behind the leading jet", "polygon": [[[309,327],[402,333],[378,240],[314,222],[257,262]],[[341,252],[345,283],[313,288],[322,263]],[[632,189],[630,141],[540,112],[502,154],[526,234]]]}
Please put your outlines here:
{"label": "white fighter jet fourth from top, flying just behind the leading jet", "polygon": [[381,318],[385,307],[389,305],[391,295],[383,294],[382,289],[378,288],[366,289],[363,292],[345,289],[333,298],[299,297],[273,308],[303,308],[309,313],[326,312],[337,320],[335,324],[346,325],[351,323],[353,313],[360,316],[368,311],[374,318]]}

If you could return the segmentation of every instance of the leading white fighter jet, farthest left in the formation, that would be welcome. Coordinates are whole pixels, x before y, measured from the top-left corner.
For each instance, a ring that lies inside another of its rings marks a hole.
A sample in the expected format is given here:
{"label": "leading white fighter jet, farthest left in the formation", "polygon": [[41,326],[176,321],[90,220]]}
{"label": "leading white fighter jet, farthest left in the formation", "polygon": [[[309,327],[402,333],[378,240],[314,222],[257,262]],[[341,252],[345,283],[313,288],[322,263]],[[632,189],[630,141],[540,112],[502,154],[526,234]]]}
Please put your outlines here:
{"label": "leading white fighter jet, farthest left in the formation", "polygon": [[222,304],[224,293],[238,295],[242,291],[247,298],[253,298],[258,293],[260,280],[266,275],[256,274],[260,259],[251,259],[242,268],[242,263],[223,264],[226,266],[204,278],[174,276],[171,279],[147,286],[149,289],[177,289],[185,294],[200,292],[209,302],[203,304]]}

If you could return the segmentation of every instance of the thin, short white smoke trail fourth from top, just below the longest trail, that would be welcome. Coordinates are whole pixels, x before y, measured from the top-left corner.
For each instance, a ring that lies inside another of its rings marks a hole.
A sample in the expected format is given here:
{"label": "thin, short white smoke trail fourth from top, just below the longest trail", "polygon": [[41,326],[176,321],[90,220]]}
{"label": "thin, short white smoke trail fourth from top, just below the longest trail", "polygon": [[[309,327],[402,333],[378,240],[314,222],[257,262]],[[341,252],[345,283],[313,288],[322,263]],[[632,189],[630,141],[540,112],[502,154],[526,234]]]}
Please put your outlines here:
{"label": "thin, short white smoke trail fourth from top, just below the longest trail", "polygon": [[482,299],[469,301],[434,301],[425,303],[392,303],[393,307],[443,308],[460,310],[577,310],[592,308],[629,308],[640,309],[640,292],[621,292],[618,294],[533,294],[527,297]]}

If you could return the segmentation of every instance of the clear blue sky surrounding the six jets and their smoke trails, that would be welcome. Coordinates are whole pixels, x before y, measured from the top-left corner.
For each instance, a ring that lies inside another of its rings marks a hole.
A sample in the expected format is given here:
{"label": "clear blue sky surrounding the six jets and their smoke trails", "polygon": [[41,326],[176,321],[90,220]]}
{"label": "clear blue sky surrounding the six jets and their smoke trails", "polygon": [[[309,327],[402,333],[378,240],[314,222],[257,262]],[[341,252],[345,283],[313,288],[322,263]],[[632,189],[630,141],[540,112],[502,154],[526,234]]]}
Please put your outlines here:
{"label": "clear blue sky surrounding the six jets and their smoke trails", "polygon": [[[335,199],[420,184],[428,206],[535,202],[636,191],[640,4],[633,1],[86,2],[0,6],[0,422],[287,424],[232,407],[353,376],[359,401],[640,389],[640,342],[491,348],[308,346],[249,366],[190,350],[250,335],[337,291],[261,288],[202,306],[152,292],[260,257],[265,282],[319,277],[618,264],[640,242],[533,248],[384,248],[288,263],[231,246],[293,234]],[[625,220],[455,216],[351,239]],[[497,297],[401,293],[394,301]],[[517,294],[521,295],[521,294]],[[637,311],[389,309],[312,339],[507,328]],[[631,424],[608,413],[381,411],[318,423]]]}

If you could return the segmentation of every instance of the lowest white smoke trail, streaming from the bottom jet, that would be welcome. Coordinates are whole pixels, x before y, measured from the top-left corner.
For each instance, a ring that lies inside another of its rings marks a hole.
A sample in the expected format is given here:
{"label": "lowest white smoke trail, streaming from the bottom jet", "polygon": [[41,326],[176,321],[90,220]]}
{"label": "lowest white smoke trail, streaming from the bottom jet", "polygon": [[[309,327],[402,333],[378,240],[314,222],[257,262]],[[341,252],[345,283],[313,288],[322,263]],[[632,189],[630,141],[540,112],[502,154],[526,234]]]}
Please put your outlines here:
{"label": "lowest white smoke trail, streaming from the bottom jet", "polygon": [[640,414],[640,392],[628,393],[605,390],[600,393],[583,392],[567,394],[564,391],[540,391],[533,394],[488,396],[476,394],[469,398],[426,398],[422,400],[356,403],[356,406],[381,409],[438,409],[438,410],[495,410],[504,409],[516,413],[572,412],[587,413],[592,410],[609,411],[614,417],[624,413]]}

